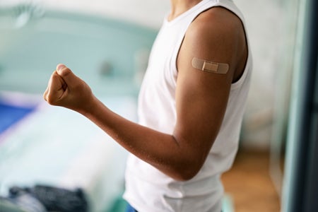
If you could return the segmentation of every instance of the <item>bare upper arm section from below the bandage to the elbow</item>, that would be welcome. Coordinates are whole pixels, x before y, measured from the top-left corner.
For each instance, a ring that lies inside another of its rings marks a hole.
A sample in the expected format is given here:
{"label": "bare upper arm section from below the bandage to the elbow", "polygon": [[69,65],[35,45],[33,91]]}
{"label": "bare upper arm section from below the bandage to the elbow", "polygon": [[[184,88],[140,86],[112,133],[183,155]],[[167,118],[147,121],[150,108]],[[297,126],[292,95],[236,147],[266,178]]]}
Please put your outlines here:
{"label": "bare upper arm section from below the bandage to the elbow", "polygon": [[223,121],[230,83],[226,76],[182,66],[177,78],[174,136],[187,146],[192,158],[203,156],[205,160]]}

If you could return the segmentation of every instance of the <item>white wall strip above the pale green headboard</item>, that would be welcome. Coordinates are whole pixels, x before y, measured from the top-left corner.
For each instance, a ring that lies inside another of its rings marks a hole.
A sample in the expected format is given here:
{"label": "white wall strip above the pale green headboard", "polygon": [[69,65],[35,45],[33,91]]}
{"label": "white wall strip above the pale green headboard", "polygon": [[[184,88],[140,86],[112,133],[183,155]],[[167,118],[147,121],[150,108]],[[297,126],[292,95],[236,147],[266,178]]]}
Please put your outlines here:
{"label": "white wall strip above the pale green headboard", "polygon": [[158,29],[169,11],[170,1],[160,0],[0,0],[1,6],[20,2],[63,11],[111,16]]}

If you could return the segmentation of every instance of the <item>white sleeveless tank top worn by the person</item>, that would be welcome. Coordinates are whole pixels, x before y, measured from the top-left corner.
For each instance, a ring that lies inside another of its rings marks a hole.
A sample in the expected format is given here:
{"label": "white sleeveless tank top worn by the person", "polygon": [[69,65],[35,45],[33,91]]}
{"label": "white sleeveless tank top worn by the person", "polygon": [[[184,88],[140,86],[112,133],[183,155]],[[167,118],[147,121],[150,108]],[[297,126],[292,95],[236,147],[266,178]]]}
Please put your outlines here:
{"label": "white sleeveless tank top worn by the person", "polygon": [[[203,0],[172,21],[165,18],[153,44],[139,93],[139,124],[166,134],[174,131],[177,120],[177,53],[190,23],[213,6],[228,8],[244,24],[242,13],[230,0]],[[124,199],[131,206],[139,212],[221,211],[223,186],[220,175],[232,166],[237,153],[251,69],[252,57],[249,53],[244,73],[230,88],[228,106],[218,136],[206,162],[194,178],[186,182],[176,181],[134,155],[129,155]]]}

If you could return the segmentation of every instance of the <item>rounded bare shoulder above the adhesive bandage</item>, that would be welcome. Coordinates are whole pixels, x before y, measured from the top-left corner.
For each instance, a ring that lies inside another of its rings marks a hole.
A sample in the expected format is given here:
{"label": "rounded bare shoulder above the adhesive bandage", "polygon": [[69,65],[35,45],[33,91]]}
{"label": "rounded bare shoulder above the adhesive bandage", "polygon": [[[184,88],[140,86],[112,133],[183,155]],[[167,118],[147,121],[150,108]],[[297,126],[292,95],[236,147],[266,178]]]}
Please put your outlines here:
{"label": "rounded bare shoulder above the adhesive bandage", "polygon": [[184,37],[192,57],[230,64],[233,81],[240,77],[247,59],[245,29],[239,17],[227,8],[213,7],[197,16]]}

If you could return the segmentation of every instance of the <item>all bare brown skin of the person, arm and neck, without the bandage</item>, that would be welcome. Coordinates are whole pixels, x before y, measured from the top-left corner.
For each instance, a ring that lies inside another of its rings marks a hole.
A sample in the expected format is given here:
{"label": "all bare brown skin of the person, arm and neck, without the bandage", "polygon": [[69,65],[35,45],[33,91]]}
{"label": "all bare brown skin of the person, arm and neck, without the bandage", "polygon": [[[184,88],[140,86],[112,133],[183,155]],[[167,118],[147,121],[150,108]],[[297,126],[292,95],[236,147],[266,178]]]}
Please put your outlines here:
{"label": "all bare brown skin of the person, arm and neck, without the bandage", "polygon": [[[169,19],[198,2],[172,1]],[[193,57],[229,64],[229,71],[199,71],[192,67]],[[52,73],[44,98],[50,105],[83,114],[127,151],[165,175],[184,181],[192,179],[204,164],[222,124],[231,83],[242,75],[246,60],[245,32],[233,13],[215,7],[193,21],[177,57],[177,124],[173,134],[163,134],[115,114],[63,64]]]}

